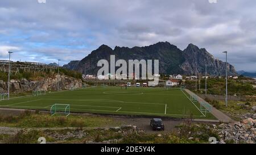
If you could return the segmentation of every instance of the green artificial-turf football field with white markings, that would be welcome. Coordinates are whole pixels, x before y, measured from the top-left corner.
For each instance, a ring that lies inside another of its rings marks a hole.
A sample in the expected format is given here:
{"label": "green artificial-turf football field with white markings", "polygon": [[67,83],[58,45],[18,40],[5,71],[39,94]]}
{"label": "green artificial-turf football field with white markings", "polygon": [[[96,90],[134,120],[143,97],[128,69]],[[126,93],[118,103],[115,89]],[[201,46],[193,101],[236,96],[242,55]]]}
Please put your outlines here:
{"label": "green artificial-turf football field with white markings", "polygon": [[198,119],[215,119],[200,111],[200,104],[192,102],[180,89],[151,87],[87,87],[2,100],[1,107],[39,109],[49,111],[53,104],[69,104],[71,112],[97,114],[153,115],[184,118],[193,114]]}

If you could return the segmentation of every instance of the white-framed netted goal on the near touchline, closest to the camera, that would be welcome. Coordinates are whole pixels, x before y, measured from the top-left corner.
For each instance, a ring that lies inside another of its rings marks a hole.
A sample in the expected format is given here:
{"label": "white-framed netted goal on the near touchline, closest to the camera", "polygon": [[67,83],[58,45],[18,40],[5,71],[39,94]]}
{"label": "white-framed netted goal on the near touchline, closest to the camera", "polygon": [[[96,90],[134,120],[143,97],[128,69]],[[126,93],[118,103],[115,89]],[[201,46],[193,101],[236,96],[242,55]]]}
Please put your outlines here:
{"label": "white-framed netted goal on the near touchline, closest to the camera", "polygon": [[53,104],[51,107],[51,116],[55,114],[70,115],[70,104]]}

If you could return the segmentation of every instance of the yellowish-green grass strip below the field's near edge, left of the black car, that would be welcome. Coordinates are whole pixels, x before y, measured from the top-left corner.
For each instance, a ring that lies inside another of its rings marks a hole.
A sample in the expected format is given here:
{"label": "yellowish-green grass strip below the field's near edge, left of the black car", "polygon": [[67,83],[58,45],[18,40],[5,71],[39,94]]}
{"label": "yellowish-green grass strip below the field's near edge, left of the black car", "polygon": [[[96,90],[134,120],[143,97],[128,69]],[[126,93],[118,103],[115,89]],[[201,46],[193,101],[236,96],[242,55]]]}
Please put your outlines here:
{"label": "yellowish-green grass strip below the field's near edge, left of the black car", "polygon": [[100,118],[98,116],[50,116],[49,114],[31,114],[25,111],[18,116],[0,116],[0,125],[6,127],[22,128],[53,128],[53,127],[105,127],[119,125],[112,118]]}

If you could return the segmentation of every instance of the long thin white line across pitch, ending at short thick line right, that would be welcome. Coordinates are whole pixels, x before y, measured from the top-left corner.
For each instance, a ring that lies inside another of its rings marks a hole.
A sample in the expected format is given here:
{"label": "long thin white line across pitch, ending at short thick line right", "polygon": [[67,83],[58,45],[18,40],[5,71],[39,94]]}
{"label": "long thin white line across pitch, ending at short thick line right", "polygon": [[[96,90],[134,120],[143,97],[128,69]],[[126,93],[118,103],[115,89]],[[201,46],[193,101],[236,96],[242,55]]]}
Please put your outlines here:
{"label": "long thin white line across pitch, ending at short thick line right", "polygon": [[46,100],[73,100],[73,101],[93,101],[93,102],[98,102],[98,101],[102,101],[102,102],[117,102],[117,103],[132,103],[132,104],[158,104],[158,105],[165,105],[164,103],[147,103],[147,102],[125,102],[122,100],[104,100],[104,99],[49,99],[47,98]]}

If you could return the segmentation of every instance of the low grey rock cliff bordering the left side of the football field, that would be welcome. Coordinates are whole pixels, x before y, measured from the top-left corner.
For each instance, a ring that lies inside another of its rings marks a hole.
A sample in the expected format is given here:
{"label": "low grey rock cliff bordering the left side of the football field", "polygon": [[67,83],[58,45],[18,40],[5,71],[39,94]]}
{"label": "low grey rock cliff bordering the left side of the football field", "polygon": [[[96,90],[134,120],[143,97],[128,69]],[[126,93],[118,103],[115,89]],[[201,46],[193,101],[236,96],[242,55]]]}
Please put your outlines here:
{"label": "low grey rock cliff bordering the left side of the football field", "polygon": [[[47,90],[55,91],[57,90],[57,81],[58,78],[44,78],[39,81],[28,81],[27,79],[11,79],[10,80],[10,92],[12,93],[22,93],[23,91],[32,91],[32,90]],[[81,79],[76,79],[68,76],[60,76],[59,78],[59,89],[67,90],[70,88],[81,88],[82,81]],[[7,93],[8,82],[0,80],[0,93]]]}

